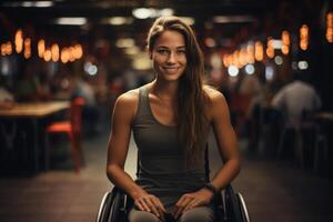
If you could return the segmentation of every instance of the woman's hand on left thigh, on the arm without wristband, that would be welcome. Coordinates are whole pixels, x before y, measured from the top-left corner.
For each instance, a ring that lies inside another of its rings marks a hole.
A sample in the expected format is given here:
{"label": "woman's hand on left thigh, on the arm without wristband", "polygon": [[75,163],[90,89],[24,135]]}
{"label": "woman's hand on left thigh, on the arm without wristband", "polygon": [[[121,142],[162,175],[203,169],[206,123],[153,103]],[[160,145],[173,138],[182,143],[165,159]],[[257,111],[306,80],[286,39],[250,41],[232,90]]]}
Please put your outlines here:
{"label": "woman's hand on left thigh, on the arm without wristband", "polygon": [[133,200],[134,205],[139,210],[151,212],[158,218],[161,218],[167,212],[160,199],[147,192],[138,194]]}

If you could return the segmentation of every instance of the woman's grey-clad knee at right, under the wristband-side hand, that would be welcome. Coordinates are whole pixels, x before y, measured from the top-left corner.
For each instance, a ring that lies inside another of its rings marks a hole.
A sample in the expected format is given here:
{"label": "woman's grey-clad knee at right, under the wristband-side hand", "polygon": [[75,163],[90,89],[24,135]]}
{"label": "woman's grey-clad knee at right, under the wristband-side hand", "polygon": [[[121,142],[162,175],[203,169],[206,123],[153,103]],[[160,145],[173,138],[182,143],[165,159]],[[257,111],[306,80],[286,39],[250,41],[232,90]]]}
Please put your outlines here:
{"label": "woman's grey-clad knee at right, under the wristband-side hand", "polygon": [[199,206],[181,215],[179,222],[213,222],[214,212],[209,206]]}

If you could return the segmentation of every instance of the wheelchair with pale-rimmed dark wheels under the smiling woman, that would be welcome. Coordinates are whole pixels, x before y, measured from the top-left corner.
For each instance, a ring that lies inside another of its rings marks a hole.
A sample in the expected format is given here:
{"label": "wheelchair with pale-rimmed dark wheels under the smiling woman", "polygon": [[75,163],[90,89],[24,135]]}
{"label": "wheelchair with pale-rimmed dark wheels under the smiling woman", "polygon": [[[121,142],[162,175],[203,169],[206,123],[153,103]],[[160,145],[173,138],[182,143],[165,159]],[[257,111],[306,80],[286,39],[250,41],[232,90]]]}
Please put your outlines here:
{"label": "wheelchair with pale-rimmed dark wheels under the smiling woman", "polygon": [[[209,181],[210,168],[208,149],[205,150],[205,175]],[[138,163],[139,169],[139,157]],[[215,194],[214,213],[215,222],[250,222],[249,212],[246,209],[243,195],[240,192],[234,192],[231,184]],[[128,222],[128,212],[133,205],[133,200],[122,190],[113,186],[107,192],[100,203],[99,212],[95,222]]]}

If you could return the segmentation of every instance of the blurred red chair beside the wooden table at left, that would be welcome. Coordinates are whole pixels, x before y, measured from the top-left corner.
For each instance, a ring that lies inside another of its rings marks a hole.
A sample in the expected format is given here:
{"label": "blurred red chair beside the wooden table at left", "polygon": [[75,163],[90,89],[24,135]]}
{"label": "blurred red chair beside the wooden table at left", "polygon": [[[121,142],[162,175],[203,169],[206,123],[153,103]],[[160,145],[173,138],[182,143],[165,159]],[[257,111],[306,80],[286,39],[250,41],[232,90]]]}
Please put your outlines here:
{"label": "blurred red chair beside the wooden table at left", "polygon": [[[71,159],[74,164],[75,172],[80,172],[83,165],[83,152],[81,148],[81,125],[82,125],[82,107],[84,104],[83,98],[75,98],[71,102],[70,120],[52,122],[47,127],[47,138],[53,133],[68,134],[71,142]],[[49,141],[49,140],[48,140]],[[49,142],[47,142],[49,145]],[[47,153],[49,155],[49,153]],[[49,168],[49,158],[46,157],[46,169]]]}

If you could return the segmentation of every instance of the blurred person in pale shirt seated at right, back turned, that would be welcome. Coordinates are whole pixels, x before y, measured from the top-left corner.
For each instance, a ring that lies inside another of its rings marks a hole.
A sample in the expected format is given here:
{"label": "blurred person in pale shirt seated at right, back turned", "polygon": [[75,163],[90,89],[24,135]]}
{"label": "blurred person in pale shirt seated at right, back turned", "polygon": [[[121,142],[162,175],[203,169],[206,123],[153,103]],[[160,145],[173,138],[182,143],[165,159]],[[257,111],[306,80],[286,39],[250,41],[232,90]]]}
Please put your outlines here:
{"label": "blurred person in pale shirt seated at right, back turned", "polygon": [[321,99],[307,83],[309,73],[295,71],[293,74],[294,81],[278,91],[271,104],[282,112],[285,123],[299,125],[304,112],[311,113],[321,108]]}

